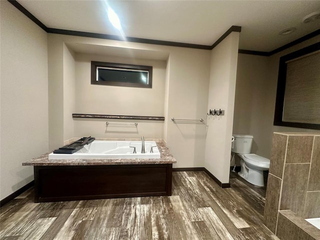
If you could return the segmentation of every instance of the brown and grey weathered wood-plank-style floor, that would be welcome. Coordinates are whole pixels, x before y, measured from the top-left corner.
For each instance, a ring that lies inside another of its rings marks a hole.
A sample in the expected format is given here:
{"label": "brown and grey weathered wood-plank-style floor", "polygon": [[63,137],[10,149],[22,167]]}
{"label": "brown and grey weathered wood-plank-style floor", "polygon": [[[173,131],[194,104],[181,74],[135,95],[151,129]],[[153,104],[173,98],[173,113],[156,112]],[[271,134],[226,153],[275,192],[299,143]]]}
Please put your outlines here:
{"label": "brown and grey weathered wood-plank-style floor", "polygon": [[180,171],[172,196],[48,203],[33,203],[31,188],[0,208],[0,239],[277,239],[263,225],[264,196],[234,174],[230,183]]}

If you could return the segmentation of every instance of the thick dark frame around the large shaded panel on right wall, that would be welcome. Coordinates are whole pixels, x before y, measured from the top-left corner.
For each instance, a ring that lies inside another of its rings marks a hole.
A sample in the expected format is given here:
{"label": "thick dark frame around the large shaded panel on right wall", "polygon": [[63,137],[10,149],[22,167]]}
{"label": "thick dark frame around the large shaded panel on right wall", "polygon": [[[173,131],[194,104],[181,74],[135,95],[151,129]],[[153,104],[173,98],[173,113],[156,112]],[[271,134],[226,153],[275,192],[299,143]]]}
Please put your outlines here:
{"label": "thick dark frame around the large shaded panel on right wall", "polygon": [[300,127],[300,128],[308,128],[308,129],[320,130],[320,124],[282,121],[283,104],[284,104],[284,93],[285,93],[285,81],[286,81],[286,67],[287,67],[286,62],[288,60],[291,60],[291,59],[306,55],[308,53],[317,51],[319,49],[320,49],[320,42],[317,42],[315,44],[312,44],[310,46],[304,47],[304,48],[302,48],[300,50],[291,52],[291,53],[289,53],[287,55],[284,55],[284,56],[280,57],[273,125]]}

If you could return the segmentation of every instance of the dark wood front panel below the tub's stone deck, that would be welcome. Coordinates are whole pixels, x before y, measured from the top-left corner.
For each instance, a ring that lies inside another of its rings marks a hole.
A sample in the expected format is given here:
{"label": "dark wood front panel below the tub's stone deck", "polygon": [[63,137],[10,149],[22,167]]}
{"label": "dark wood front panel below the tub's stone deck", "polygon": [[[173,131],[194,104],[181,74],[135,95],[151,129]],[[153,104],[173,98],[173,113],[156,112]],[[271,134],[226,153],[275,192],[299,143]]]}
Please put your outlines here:
{"label": "dark wood front panel below the tub's stone deck", "polygon": [[172,164],[34,166],[35,202],[171,194]]}

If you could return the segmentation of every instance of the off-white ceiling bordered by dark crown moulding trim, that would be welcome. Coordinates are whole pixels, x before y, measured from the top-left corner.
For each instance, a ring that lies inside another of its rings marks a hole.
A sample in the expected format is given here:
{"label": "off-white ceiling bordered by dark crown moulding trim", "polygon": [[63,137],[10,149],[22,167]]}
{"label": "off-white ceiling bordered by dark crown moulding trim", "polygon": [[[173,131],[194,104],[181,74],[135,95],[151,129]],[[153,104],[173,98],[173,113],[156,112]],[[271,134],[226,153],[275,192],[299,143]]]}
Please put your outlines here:
{"label": "off-white ceiling bordered by dark crown moulding trim", "polygon": [[[320,28],[320,0],[18,0],[46,27],[153,40],[212,45],[241,26],[239,48],[271,51]],[[122,31],[106,15],[119,16]],[[296,31],[279,35],[289,27]]]}

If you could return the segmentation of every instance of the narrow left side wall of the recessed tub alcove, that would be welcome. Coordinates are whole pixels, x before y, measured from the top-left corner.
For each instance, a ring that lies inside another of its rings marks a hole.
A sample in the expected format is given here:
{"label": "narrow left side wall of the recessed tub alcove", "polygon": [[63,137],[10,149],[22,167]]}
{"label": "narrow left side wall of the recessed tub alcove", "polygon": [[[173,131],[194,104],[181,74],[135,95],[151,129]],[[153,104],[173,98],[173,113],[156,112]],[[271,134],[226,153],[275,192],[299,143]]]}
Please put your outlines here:
{"label": "narrow left side wall of the recessed tub alcove", "polygon": [[72,113],[75,111],[74,52],[63,43],[63,139],[74,137]]}

